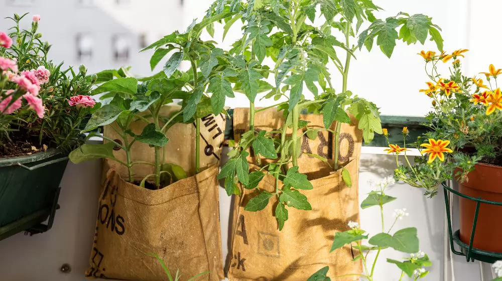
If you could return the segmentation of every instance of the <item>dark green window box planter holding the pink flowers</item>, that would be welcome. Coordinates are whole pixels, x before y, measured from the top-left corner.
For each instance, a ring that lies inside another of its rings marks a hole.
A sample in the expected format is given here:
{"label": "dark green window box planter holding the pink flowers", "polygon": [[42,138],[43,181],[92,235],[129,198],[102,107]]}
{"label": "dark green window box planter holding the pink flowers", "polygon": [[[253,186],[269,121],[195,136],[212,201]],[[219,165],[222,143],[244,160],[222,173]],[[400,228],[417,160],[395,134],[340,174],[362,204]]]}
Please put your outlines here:
{"label": "dark green window box planter holding the pink flowers", "polygon": [[55,149],[0,158],[0,240],[51,228],[67,163],[67,155]]}

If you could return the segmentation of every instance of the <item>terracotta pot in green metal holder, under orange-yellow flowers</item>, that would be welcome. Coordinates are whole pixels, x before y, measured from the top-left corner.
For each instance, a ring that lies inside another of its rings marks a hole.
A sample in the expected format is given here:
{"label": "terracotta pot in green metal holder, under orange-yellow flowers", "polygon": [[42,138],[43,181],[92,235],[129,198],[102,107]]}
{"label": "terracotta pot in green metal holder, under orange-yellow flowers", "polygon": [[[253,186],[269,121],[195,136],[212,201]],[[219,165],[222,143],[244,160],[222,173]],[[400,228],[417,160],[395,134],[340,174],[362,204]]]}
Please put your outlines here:
{"label": "terracotta pot in green metal holder, under orange-yellow flowers", "polygon": [[[459,192],[488,201],[502,202],[502,167],[477,164],[467,175],[468,181],[459,183]],[[460,240],[470,243],[476,201],[459,198]],[[473,247],[491,252],[502,252],[502,206],[481,203],[474,234]]]}

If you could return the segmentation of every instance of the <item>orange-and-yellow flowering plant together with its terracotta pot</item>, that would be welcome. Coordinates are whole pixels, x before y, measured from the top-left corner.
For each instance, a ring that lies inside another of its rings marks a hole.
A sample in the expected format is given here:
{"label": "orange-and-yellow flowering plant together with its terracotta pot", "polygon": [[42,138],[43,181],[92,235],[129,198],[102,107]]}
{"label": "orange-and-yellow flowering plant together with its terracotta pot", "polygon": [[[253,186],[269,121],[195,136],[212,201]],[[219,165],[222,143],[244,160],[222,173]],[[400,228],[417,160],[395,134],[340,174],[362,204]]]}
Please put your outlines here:
{"label": "orange-and-yellow flowering plant together with its terracotta pot", "polygon": [[[431,98],[432,111],[425,123],[431,130],[413,146],[423,157],[411,165],[406,151],[389,144],[388,153],[396,157],[397,180],[425,188],[430,197],[437,193],[440,183],[458,181],[461,194],[489,201],[502,202],[502,93],[497,79],[502,69],[490,65],[484,74],[486,80],[464,76],[461,59],[467,50],[451,54],[421,52],[429,78],[426,89],[420,90]],[[437,64],[451,63],[450,76],[441,76]],[[387,135],[386,135],[387,136]],[[403,136],[408,136],[407,128]],[[406,165],[400,166],[398,155],[404,155]],[[460,233],[465,244],[470,244],[476,202],[460,198]],[[472,243],[474,248],[502,252],[500,233],[502,226],[493,219],[502,215],[502,208],[481,204]]]}

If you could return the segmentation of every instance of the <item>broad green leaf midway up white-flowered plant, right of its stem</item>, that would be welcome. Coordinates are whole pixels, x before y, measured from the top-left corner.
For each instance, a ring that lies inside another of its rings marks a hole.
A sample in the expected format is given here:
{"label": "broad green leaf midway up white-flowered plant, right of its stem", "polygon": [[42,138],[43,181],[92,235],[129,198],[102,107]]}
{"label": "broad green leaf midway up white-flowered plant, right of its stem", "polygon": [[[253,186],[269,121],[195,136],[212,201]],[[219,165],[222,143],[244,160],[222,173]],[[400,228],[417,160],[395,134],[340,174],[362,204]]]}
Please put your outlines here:
{"label": "broad green leaf midway up white-flowered plant, right of its stem", "polygon": [[391,247],[405,253],[416,253],[419,250],[419,240],[415,227],[398,230],[391,236],[388,233],[379,233],[368,241],[371,245]]}

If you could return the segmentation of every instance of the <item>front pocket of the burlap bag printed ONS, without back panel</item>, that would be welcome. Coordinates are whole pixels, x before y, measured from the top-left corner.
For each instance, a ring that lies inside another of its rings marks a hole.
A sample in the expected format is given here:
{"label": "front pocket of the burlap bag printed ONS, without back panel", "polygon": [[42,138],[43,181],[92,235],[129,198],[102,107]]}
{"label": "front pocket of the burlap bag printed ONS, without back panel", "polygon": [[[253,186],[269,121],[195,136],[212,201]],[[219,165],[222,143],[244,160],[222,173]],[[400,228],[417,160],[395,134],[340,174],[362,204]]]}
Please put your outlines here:
{"label": "front pocket of the burlap bag printed ONS, without back panel", "polygon": [[181,279],[221,280],[221,237],[216,175],[218,167],[160,190],[122,180],[110,170],[99,200],[89,278],[168,280],[164,259]]}

